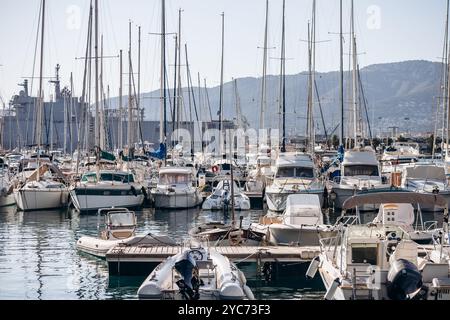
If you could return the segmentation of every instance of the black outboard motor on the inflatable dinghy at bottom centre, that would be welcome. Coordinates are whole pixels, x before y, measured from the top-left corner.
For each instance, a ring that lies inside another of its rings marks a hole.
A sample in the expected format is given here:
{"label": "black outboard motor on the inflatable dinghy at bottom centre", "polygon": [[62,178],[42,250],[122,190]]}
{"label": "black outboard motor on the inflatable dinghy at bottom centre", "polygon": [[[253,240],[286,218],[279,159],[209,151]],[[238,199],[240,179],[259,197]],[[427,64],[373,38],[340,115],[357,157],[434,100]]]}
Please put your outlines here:
{"label": "black outboard motor on the inflatable dinghy at bottom centre", "polygon": [[200,298],[198,278],[193,277],[195,268],[197,268],[197,262],[189,251],[185,252],[175,263],[175,270],[182,276],[182,279],[177,281],[177,286],[186,300],[198,300]]}

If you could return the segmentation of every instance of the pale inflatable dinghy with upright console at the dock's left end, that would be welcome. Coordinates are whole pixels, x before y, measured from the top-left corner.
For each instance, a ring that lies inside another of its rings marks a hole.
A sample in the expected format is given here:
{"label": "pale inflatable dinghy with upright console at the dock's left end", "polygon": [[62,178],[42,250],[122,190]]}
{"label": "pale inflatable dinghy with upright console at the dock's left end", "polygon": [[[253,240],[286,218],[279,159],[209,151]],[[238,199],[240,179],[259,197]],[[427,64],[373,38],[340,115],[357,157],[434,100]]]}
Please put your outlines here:
{"label": "pale inflatable dinghy with upright console at the dock's left end", "polygon": [[76,244],[79,251],[105,258],[111,248],[121,246],[152,246],[161,245],[176,246],[167,236],[155,236],[152,234],[135,235],[137,226],[136,215],[126,208],[104,208],[98,210],[98,218],[105,216],[104,228],[101,230],[98,223],[99,237],[81,237]]}

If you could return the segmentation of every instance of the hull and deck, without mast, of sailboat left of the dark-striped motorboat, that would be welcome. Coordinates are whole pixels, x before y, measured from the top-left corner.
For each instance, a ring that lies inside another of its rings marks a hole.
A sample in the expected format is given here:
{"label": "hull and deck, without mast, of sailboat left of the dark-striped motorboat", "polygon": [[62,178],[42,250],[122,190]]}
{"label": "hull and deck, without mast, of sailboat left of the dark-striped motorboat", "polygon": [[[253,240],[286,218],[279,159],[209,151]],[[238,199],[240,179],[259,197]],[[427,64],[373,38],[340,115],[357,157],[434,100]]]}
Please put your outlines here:
{"label": "hull and deck, without mast, of sailboat left of the dark-striped motorboat", "polygon": [[38,211],[67,206],[69,191],[62,181],[64,177],[55,166],[40,166],[23,186],[14,190],[17,207],[22,211]]}

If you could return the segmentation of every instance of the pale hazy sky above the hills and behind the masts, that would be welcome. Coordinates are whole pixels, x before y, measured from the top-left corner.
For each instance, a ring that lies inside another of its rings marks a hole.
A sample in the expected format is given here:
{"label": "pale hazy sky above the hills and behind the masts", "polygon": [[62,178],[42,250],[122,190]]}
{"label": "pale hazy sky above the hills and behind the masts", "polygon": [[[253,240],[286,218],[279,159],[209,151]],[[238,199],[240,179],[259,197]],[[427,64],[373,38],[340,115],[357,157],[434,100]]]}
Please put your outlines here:
{"label": "pale hazy sky above the hills and behind the masts", "polygon": [[[128,48],[128,21],[133,21],[133,55],[137,57],[137,25],[142,26],[142,92],[159,88],[160,0],[99,0],[104,54],[124,54]],[[0,0],[0,96],[9,101],[19,91],[21,77],[32,75],[40,1]],[[270,57],[280,55],[282,0],[270,0]],[[188,44],[191,73],[197,72],[216,86],[220,79],[221,17],[225,12],[225,81],[233,77],[259,77],[262,73],[265,0],[166,0],[167,32],[177,31],[178,9],[183,12],[182,42]],[[312,0],[286,0],[287,73],[306,70],[307,23]],[[439,61],[444,41],[446,0],[355,0],[356,32],[362,66],[411,59]],[[63,85],[74,73],[75,93],[80,94],[89,0],[47,0],[45,76],[61,64]],[[349,30],[350,0],[344,0],[345,31]],[[339,68],[339,1],[317,0],[317,70]],[[331,34],[330,34],[331,33]],[[348,41],[346,49],[348,52]],[[167,36],[169,59],[174,63],[173,35]],[[183,53],[183,62],[184,53]],[[347,60],[347,59],[346,59]],[[127,61],[125,58],[124,61]],[[137,62],[135,62],[135,70]],[[347,64],[347,63],[346,63]],[[117,95],[118,59],[105,60],[105,84]],[[169,66],[172,75],[173,67]],[[127,67],[124,67],[127,72]],[[271,59],[269,72],[279,73]],[[36,68],[35,76],[38,75]],[[126,79],[126,78],[125,78]],[[127,80],[124,80],[127,83]],[[196,83],[196,80],[195,80]],[[33,91],[36,91],[36,83]],[[45,83],[46,98],[52,91]]]}

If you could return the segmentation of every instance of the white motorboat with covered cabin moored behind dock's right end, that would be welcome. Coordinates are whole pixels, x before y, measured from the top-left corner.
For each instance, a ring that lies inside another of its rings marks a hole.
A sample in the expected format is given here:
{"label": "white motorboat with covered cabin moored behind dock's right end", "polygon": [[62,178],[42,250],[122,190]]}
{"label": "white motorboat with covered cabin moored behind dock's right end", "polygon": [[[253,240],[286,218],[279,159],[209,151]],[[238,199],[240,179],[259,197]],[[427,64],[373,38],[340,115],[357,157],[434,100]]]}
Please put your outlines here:
{"label": "white motorboat with covered cabin moored behind dock's right end", "polygon": [[318,195],[288,196],[286,210],[279,220],[266,226],[271,245],[318,246],[320,238],[332,235],[332,226],[323,223]]}

